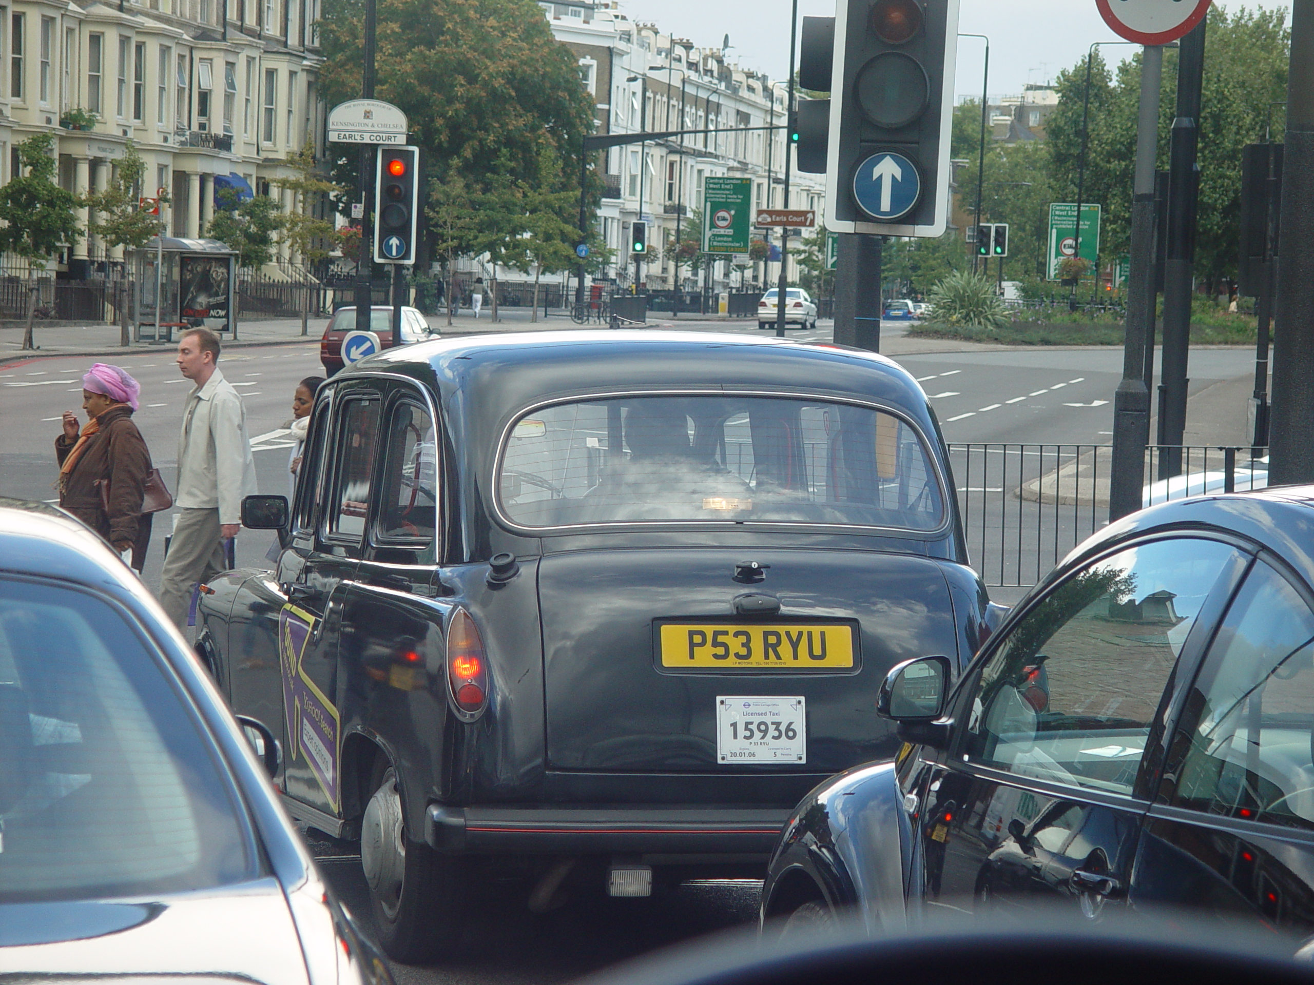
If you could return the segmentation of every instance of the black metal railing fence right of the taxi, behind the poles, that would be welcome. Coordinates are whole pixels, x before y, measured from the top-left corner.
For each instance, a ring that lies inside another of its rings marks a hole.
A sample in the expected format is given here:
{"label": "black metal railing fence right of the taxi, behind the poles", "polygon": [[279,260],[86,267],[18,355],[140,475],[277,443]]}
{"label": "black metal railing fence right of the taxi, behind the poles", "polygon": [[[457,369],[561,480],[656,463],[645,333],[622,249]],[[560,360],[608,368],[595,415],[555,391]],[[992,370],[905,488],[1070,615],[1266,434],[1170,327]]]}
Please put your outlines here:
{"label": "black metal railing fence right of the taxi, behind the poles", "polygon": [[[949,462],[972,566],[997,587],[1029,587],[1109,520],[1109,445],[951,444]],[[1172,478],[1160,466],[1180,462]],[[1268,485],[1267,448],[1146,449],[1143,506]]]}

